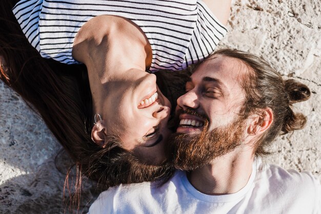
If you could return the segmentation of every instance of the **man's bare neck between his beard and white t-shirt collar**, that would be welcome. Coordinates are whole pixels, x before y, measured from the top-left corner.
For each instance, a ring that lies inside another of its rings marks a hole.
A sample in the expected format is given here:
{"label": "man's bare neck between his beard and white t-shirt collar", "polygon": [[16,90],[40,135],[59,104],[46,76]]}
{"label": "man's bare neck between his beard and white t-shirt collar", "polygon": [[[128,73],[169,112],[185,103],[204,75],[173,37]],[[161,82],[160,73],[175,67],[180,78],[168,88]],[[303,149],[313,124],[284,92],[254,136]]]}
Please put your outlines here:
{"label": "man's bare neck between his beard and white t-shirt collar", "polygon": [[246,186],[254,157],[252,151],[237,149],[188,175],[190,183],[200,192],[210,195],[231,194]]}

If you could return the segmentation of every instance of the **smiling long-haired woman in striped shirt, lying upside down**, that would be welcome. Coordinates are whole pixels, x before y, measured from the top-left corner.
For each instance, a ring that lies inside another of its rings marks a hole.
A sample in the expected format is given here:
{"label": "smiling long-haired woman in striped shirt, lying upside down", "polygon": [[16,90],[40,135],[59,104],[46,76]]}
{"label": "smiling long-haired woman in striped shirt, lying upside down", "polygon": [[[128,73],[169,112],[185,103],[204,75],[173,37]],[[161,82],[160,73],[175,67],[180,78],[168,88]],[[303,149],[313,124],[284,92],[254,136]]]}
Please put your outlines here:
{"label": "smiling long-haired woman in striped shirt, lying upside down", "polygon": [[[1,4],[2,16],[12,20]],[[68,85],[66,73],[57,76],[56,63],[39,59],[8,22],[2,23],[2,79],[41,112],[75,160],[79,181],[82,173],[107,187],[152,180],[167,171],[158,165],[165,159],[170,105],[145,70],[180,70],[203,60],[226,33],[229,7],[230,1],[20,1],[13,13],[29,43],[43,57],[84,63],[91,97],[79,97],[79,90],[86,93],[79,74],[68,74],[75,82]]]}

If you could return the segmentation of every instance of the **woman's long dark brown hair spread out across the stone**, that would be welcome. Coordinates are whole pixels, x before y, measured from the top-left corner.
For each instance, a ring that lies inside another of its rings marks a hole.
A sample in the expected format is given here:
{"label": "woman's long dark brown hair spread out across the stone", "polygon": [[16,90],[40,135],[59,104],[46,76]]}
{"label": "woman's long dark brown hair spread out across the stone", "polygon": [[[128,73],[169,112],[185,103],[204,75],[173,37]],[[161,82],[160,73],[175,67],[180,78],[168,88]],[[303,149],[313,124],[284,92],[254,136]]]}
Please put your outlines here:
{"label": "woman's long dark brown hair spread out across the stone", "polygon": [[[110,137],[105,148],[91,140],[93,112],[86,67],[43,59],[18,25],[13,6],[12,1],[0,2],[0,79],[42,116],[74,160],[74,202],[79,206],[84,176],[106,189],[170,175],[169,165],[145,165],[117,138]],[[68,178],[69,174],[67,183]]]}

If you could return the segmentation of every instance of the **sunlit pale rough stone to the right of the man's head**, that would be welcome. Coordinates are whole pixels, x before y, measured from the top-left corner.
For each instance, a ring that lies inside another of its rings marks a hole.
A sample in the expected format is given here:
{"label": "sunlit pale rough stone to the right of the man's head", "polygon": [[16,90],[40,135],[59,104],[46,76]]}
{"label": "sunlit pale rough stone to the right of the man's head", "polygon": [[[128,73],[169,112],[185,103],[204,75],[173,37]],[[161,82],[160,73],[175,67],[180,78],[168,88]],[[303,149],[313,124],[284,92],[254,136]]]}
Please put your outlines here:
{"label": "sunlit pale rough stone to the right of the man's head", "polygon": [[321,2],[234,1],[228,30],[220,46],[262,56],[311,89],[310,100],[293,108],[307,116],[306,127],[277,138],[266,161],[321,179]]}

